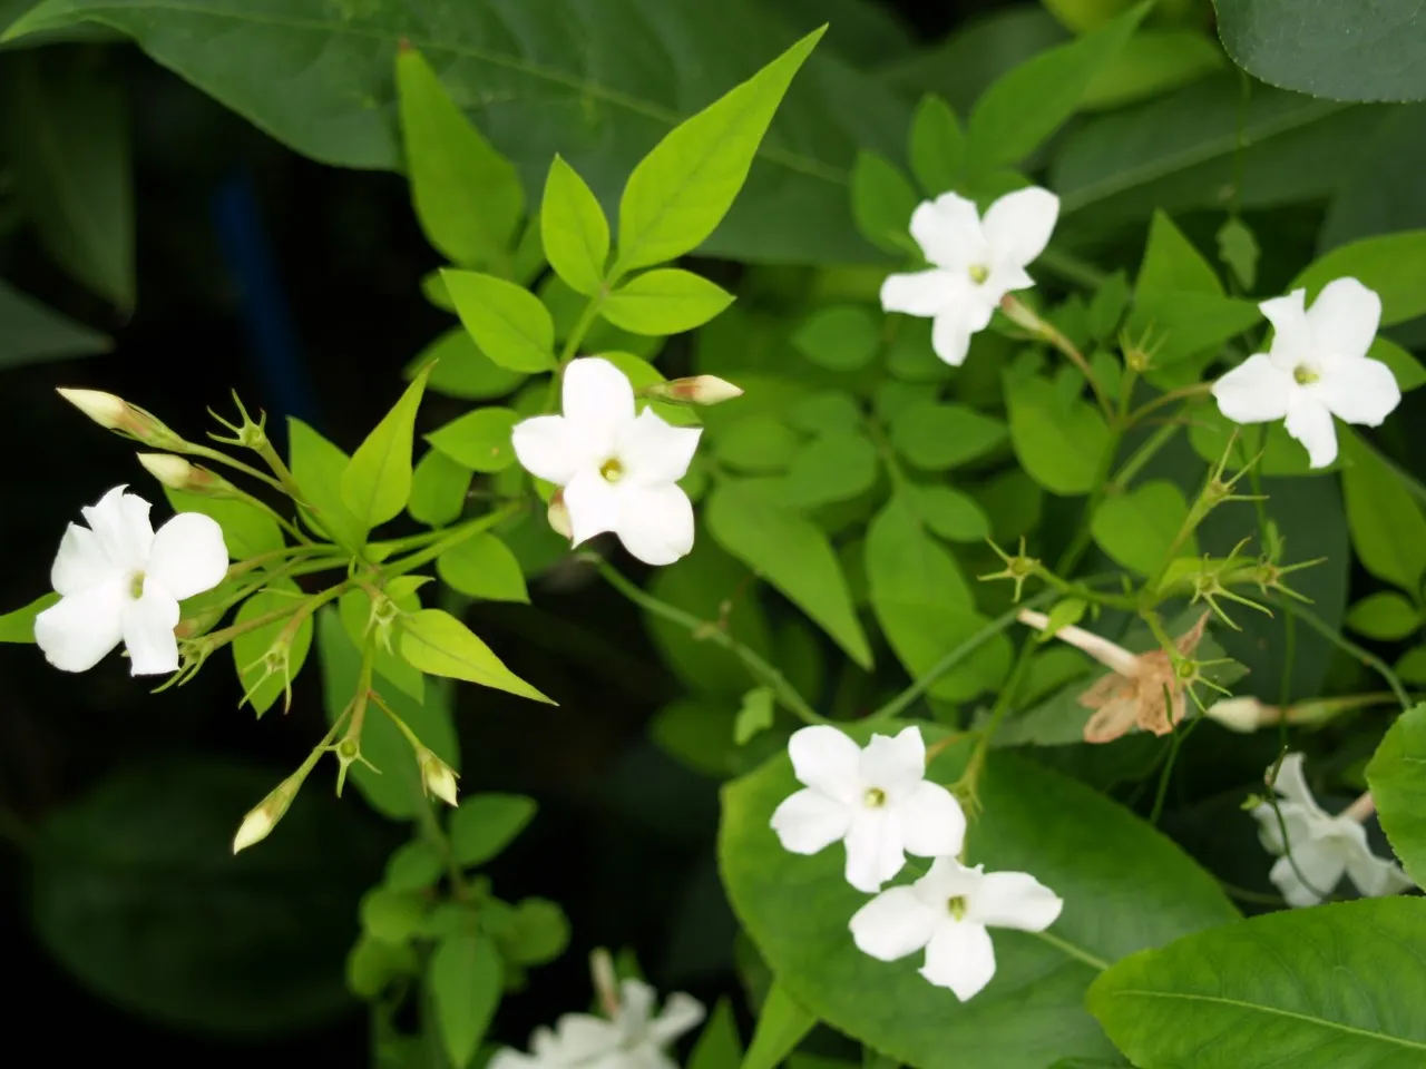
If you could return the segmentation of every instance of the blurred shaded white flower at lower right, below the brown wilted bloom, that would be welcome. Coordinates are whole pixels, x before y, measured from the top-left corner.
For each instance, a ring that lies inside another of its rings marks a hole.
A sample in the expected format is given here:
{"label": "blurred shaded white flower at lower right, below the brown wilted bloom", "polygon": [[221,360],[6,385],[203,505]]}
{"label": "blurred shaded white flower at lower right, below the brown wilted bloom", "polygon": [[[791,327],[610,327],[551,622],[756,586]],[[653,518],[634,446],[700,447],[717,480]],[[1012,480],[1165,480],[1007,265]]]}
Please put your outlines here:
{"label": "blurred shaded white flower at lower right, below the brown wilted bloom", "polygon": [[[1369,898],[1393,895],[1412,887],[1410,878],[1393,861],[1379,858],[1366,841],[1362,821],[1370,815],[1368,804],[1353,804],[1336,817],[1318,805],[1302,774],[1302,754],[1288,754],[1278,768],[1273,787],[1282,795],[1278,812],[1268,802],[1253,807],[1263,848],[1278,855],[1269,878],[1282,891],[1288,905],[1318,905],[1330,895],[1346,875]],[[1268,770],[1269,774],[1272,770]],[[1288,841],[1283,844],[1282,831]]]}

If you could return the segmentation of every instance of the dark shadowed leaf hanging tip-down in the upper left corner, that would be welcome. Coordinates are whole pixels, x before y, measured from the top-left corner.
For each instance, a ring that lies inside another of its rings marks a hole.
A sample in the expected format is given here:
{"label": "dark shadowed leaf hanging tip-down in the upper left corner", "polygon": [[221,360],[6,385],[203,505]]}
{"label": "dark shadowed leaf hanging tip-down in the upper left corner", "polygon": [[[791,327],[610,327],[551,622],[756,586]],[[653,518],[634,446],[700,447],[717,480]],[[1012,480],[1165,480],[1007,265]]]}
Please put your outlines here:
{"label": "dark shadowed leaf hanging tip-down in the upper left corner", "polygon": [[9,57],[4,134],[14,191],[44,249],[127,312],[134,306],[127,94],[117,64],[91,58],[56,48]]}

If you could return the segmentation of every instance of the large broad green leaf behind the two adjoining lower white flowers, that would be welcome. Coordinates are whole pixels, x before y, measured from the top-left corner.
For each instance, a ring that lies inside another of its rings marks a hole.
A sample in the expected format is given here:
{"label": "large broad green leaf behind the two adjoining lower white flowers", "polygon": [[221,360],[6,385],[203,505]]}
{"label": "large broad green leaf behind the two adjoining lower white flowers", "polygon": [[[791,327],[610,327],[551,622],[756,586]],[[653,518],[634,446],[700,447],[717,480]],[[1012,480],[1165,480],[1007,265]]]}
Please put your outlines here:
{"label": "large broad green leaf behind the two adjoining lower white flowers", "polygon": [[[850,734],[864,740],[873,730],[903,727],[880,723]],[[933,744],[945,734],[920,727]],[[947,748],[928,778],[953,781],[968,751],[965,744]],[[1112,1046],[1084,1011],[1095,969],[1074,952],[1112,962],[1236,915],[1208,872],[1128,810],[991,750],[970,862],[1032,871],[1065,907],[1048,939],[995,929],[995,978],[961,1003],[917,974],[920,955],[888,964],[856,948],[847,921],[867,897],[846,882],[840,847],[801,857],[769,834],[773,810],[797,787],[786,754],[724,787],[719,864],[729,901],[806,1012],[920,1069],[1044,1069],[1055,1058],[1108,1058]],[[1124,922],[1122,904],[1107,887],[1134,888],[1134,924]]]}

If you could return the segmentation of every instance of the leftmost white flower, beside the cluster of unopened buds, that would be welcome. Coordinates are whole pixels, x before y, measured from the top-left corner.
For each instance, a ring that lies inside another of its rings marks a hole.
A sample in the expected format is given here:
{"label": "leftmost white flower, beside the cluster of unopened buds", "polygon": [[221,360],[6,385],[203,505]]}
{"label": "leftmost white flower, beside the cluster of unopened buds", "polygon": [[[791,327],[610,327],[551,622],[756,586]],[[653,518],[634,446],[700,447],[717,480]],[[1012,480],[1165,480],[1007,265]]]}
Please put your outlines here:
{"label": "leftmost white flower, beside the cluster of unopened buds", "polygon": [[34,640],[64,671],[86,671],[120,641],[134,676],[178,668],[178,603],[222,582],[228,550],[222,529],[181,512],[154,533],[150,505],[116,486],[81,509],[60,540],[50,582],[58,603],[34,619]]}

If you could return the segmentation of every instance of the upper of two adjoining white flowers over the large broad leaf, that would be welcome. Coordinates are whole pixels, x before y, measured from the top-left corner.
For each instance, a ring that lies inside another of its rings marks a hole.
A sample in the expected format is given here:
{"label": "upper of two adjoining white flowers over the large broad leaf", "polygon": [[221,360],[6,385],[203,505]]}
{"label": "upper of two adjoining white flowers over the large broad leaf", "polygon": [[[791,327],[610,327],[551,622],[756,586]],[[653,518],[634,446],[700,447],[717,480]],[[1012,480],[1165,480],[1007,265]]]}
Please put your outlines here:
{"label": "upper of two adjoining white flowers over the large broad leaf", "polygon": [[846,841],[847,882],[871,892],[901,871],[908,852],[960,852],[965,814],[948,790],[927,781],[920,728],[871,735],[861,750],[837,728],[816,724],[793,733],[787,754],[807,788],[777,807],[773,831],[793,854]]}

